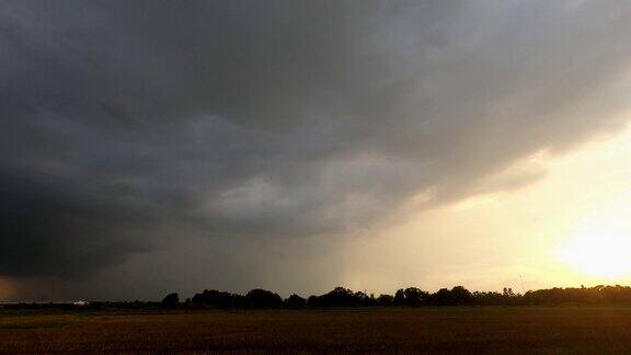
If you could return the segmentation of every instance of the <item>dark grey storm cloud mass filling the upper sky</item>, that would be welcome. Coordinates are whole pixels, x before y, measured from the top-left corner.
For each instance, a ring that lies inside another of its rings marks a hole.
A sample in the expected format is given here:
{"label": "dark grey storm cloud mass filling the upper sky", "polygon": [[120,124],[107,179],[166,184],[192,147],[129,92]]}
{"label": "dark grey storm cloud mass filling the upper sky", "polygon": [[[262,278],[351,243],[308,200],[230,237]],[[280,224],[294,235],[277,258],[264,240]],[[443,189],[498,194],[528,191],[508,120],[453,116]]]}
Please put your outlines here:
{"label": "dark grey storm cloud mass filling the upper sky", "polygon": [[467,197],[623,123],[630,8],[3,1],[0,274],[81,275],[191,230],[344,233],[423,192]]}

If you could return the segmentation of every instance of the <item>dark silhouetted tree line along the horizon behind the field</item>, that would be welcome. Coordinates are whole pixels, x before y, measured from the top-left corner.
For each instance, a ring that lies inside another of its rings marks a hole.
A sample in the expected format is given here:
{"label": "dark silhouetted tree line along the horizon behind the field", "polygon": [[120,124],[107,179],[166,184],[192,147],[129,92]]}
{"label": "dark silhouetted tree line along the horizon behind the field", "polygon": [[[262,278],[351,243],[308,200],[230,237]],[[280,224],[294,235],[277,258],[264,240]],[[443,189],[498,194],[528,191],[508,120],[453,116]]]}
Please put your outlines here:
{"label": "dark silhouetted tree line along the horizon behind the field", "polygon": [[435,293],[417,287],[401,288],[394,295],[375,296],[344,287],[303,298],[292,294],[283,299],[278,294],[255,288],[245,295],[205,289],[192,298],[180,301],[177,294],[169,294],[162,307],[190,308],[332,308],[332,307],[439,307],[439,306],[553,306],[553,305],[631,305],[629,286],[581,286],[580,288],[550,288],[515,294],[512,288],[497,291],[473,291],[462,286],[440,288]]}

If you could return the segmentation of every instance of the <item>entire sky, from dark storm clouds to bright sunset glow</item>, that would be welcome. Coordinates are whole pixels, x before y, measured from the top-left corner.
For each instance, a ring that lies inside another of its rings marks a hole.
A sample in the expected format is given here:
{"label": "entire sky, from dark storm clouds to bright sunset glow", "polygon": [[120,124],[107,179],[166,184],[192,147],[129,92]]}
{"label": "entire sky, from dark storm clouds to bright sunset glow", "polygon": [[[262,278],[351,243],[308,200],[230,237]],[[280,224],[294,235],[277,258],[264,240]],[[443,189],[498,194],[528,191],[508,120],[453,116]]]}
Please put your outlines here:
{"label": "entire sky, from dark storm clouds to bright sunset glow", "polygon": [[631,4],[0,1],[0,300],[629,283]]}

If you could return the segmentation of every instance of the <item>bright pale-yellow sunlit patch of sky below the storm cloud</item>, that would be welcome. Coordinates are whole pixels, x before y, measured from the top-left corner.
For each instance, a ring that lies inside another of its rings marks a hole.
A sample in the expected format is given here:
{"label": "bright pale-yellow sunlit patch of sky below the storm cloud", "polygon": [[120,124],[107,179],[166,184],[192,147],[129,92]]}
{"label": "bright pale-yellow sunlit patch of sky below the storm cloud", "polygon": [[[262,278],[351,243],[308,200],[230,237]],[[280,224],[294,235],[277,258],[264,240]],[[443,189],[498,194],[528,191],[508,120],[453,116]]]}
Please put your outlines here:
{"label": "bright pale-yellow sunlit patch of sky below the storm cloud", "polygon": [[631,130],[559,157],[542,151],[510,170],[544,173],[517,191],[421,213],[356,239],[341,252],[353,255],[345,284],[521,290],[520,276],[525,289],[631,280],[631,262],[611,261],[631,244]]}

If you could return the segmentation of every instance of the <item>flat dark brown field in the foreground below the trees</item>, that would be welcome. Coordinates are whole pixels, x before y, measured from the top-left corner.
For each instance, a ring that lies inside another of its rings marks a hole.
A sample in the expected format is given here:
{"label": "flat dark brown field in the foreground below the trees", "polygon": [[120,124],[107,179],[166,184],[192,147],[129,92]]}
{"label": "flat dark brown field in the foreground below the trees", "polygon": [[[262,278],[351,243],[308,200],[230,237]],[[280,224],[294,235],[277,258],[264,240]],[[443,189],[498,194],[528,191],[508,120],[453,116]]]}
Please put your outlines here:
{"label": "flat dark brown field in the foreground below the trees", "polygon": [[0,353],[630,353],[631,308],[0,309]]}

